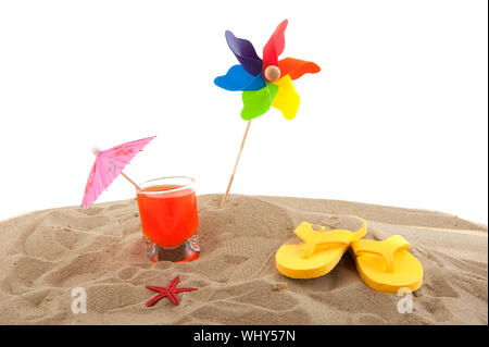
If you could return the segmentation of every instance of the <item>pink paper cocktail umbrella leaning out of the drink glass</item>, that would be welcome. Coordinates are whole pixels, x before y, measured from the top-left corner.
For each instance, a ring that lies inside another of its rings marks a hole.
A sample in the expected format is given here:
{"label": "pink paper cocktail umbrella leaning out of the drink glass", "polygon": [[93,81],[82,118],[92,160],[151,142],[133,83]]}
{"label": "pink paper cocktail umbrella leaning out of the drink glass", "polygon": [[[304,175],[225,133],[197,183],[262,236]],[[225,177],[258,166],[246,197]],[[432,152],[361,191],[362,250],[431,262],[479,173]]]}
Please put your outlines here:
{"label": "pink paper cocktail umbrella leaning out of the drink glass", "polygon": [[138,185],[127,177],[122,171],[136,154],[145,148],[155,136],[142,138],[136,141],[126,142],[108,150],[95,148],[93,154],[97,156],[93,166],[91,166],[85,187],[85,195],[82,206],[88,208],[97,200],[99,195],[111,185],[118,174],[123,175],[136,188]]}

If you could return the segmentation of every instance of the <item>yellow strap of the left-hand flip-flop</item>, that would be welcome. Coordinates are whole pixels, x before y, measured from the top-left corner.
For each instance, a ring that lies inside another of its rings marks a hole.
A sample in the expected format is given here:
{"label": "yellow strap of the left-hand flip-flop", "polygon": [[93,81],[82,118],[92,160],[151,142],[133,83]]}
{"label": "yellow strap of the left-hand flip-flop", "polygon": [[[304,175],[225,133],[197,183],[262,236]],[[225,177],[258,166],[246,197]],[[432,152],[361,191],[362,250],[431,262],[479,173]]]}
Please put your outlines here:
{"label": "yellow strap of the left-hand flip-flop", "polygon": [[319,245],[339,244],[348,246],[350,245],[352,235],[350,231],[326,231],[324,226],[316,232],[313,230],[312,224],[308,222],[299,224],[294,233],[304,241],[304,245],[302,246],[304,258],[311,258]]}

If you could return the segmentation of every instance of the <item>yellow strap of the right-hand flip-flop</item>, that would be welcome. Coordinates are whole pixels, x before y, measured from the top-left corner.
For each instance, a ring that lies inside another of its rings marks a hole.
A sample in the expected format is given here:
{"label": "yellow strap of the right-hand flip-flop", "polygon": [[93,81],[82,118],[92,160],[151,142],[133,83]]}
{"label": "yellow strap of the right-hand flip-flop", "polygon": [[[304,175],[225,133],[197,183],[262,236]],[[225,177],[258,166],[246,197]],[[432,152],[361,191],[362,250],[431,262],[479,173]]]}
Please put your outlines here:
{"label": "yellow strap of the right-hand flip-flop", "polygon": [[394,272],[393,253],[398,250],[405,250],[411,247],[404,237],[393,235],[381,241],[371,239],[360,239],[352,243],[352,249],[356,257],[362,253],[373,253],[380,256],[386,262],[386,271]]}

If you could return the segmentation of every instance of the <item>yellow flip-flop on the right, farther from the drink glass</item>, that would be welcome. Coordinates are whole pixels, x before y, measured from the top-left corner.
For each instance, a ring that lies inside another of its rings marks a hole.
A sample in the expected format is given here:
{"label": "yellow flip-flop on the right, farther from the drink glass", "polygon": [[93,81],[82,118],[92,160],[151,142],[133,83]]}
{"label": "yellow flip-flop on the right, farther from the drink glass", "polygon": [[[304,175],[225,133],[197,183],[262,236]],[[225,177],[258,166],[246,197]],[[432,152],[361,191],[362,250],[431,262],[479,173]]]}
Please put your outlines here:
{"label": "yellow flip-flop on the right, farther from the drink glass", "polygon": [[385,240],[360,239],[351,243],[352,256],[363,282],[372,289],[398,293],[418,289],[423,284],[419,260],[406,251],[411,245],[401,235]]}

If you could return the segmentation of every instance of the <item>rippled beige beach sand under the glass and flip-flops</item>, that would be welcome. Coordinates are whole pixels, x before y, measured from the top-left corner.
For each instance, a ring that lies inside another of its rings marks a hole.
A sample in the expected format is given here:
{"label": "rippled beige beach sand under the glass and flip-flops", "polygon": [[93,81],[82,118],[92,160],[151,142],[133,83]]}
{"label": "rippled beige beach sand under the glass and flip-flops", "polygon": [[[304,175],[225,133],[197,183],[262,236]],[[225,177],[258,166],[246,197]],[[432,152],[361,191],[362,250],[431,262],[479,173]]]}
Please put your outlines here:
{"label": "rippled beige beach sand under the glass and flip-flops", "polygon": [[[198,198],[202,255],[191,263],[149,262],[134,199],[33,212],[0,223],[2,324],[487,324],[487,226],[454,215],[346,201],[233,195]],[[327,275],[290,280],[277,248],[301,221],[331,227],[341,215],[367,220],[367,236],[401,234],[422,262],[412,313],[401,299],[360,278],[347,252]],[[145,285],[198,287],[154,307]],[[87,313],[71,310],[72,289]]]}

